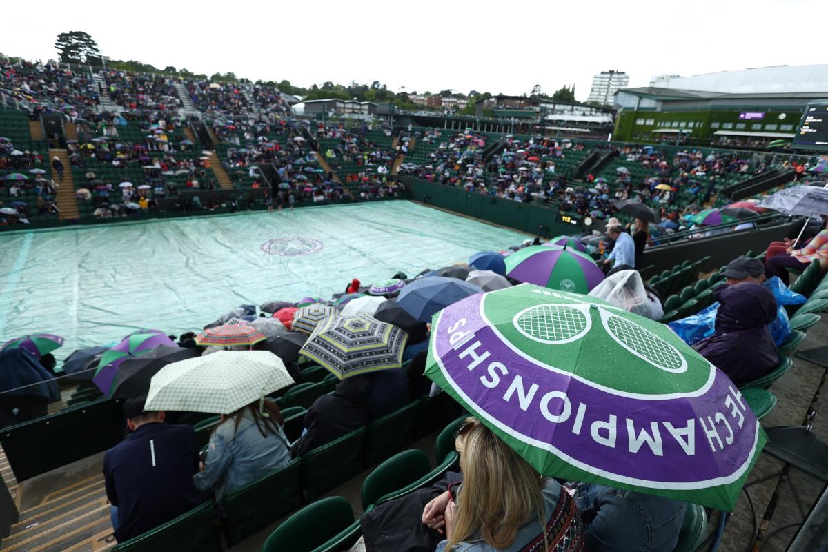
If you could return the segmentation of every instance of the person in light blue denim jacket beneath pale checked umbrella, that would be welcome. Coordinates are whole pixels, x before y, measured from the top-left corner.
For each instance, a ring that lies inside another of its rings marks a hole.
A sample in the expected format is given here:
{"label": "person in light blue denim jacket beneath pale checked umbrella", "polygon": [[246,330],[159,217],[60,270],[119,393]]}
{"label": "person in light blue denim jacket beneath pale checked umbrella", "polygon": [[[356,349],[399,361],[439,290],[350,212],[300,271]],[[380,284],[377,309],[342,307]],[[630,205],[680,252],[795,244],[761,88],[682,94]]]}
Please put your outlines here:
{"label": "person in light blue denim jacket beneath pale checked umbrella", "polygon": [[[261,402],[261,405],[260,405]],[[209,438],[207,461],[193,476],[202,492],[217,500],[291,461],[284,420],[272,401],[255,401],[229,415]]]}

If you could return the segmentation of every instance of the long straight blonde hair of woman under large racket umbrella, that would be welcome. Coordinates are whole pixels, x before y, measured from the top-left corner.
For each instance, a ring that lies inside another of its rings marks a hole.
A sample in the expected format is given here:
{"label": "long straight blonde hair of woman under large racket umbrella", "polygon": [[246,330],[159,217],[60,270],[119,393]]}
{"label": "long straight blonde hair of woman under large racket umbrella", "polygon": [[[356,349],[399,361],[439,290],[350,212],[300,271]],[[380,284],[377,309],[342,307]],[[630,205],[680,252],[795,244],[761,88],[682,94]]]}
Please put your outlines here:
{"label": "long straight blonde hair of woman under large racket umbrella", "polygon": [[[546,478],[476,418],[467,418],[455,443],[463,487],[446,550],[479,532],[496,549],[508,548],[517,530],[537,516],[546,541],[542,489]],[[546,550],[546,548],[544,548]]]}

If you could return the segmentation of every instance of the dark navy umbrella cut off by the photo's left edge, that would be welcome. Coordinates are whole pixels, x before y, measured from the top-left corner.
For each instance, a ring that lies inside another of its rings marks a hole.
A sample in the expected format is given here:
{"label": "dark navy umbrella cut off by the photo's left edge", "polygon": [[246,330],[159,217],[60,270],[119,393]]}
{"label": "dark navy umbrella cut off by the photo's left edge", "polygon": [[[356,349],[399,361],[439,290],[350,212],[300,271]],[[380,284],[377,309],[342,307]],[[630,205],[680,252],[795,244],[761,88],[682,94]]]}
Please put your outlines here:
{"label": "dark navy umbrella cut off by the photo's left edge", "polygon": [[0,389],[4,396],[40,396],[49,402],[60,400],[55,377],[34,354],[22,347],[0,350]]}

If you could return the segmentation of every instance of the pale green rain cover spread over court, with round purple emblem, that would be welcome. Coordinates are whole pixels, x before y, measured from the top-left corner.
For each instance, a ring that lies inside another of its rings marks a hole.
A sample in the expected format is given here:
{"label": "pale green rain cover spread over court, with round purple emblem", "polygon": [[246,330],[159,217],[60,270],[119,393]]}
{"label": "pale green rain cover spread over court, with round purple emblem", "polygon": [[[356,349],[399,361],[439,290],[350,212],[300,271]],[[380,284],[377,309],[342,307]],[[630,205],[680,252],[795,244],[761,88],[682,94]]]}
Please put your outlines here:
{"label": "pale green rain cover spread over court, with round purple emblem", "polygon": [[60,359],[135,329],[180,335],[238,305],[328,298],[352,278],[413,277],[526,238],[408,201],[5,233],[0,343],[59,334]]}

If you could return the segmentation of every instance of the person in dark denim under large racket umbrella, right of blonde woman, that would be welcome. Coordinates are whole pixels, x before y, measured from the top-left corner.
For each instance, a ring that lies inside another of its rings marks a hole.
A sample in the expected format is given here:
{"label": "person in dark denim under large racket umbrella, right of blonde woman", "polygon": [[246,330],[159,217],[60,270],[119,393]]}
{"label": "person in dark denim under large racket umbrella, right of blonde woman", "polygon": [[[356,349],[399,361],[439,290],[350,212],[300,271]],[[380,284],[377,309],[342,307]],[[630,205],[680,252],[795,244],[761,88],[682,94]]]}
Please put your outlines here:
{"label": "person in dark denim under large racket umbrella, right of blonde woman", "polygon": [[670,552],[686,502],[593,483],[575,488],[590,552]]}

